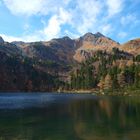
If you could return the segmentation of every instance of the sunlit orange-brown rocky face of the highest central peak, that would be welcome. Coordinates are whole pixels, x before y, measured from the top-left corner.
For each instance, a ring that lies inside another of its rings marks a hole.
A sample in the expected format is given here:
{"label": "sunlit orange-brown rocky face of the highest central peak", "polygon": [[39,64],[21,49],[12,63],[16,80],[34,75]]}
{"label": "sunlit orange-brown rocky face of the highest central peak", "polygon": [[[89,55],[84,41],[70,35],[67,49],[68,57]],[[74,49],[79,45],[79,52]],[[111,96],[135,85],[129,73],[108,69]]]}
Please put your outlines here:
{"label": "sunlit orange-brown rocky face of the highest central peak", "polygon": [[74,59],[78,62],[84,61],[91,57],[98,50],[110,52],[112,48],[119,46],[119,43],[105,37],[101,33],[87,33],[77,40],[78,49]]}

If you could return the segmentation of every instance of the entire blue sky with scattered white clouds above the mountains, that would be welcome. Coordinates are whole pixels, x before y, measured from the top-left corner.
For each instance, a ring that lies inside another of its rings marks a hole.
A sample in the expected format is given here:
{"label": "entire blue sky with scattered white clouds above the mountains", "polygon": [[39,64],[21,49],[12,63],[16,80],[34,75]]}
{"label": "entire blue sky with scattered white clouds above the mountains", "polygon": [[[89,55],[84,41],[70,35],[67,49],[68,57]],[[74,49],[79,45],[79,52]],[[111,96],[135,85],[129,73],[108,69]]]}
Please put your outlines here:
{"label": "entire blue sky with scattered white clouds above the mountains", "polygon": [[140,0],[0,0],[0,36],[47,41],[86,32],[124,43],[140,38]]}

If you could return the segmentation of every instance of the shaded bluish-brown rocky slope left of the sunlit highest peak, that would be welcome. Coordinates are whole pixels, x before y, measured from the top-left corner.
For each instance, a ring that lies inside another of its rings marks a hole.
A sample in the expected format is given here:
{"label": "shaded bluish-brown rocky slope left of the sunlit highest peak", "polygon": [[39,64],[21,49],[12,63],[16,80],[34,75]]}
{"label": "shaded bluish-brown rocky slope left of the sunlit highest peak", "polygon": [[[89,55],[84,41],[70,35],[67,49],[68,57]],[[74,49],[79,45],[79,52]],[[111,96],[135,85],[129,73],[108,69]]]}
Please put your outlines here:
{"label": "shaded bluish-brown rocky slope left of the sunlit highest peak", "polygon": [[[13,42],[14,43],[14,42]],[[69,37],[52,39],[48,42],[23,43],[16,42],[23,52],[30,58],[42,61],[51,60],[60,63],[72,63],[75,53],[75,41]]]}

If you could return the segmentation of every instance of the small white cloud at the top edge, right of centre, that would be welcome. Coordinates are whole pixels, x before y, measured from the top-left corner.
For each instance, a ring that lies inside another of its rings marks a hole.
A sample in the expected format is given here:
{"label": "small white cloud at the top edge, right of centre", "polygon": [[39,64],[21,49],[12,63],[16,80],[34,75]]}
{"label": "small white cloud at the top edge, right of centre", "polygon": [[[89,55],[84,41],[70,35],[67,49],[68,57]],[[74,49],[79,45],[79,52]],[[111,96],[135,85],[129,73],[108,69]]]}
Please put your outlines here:
{"label": "small white cloud at the top edge, right of centre", "polygon": [[113,16],[123,9],[124,0],[107,0],[108,15]]}

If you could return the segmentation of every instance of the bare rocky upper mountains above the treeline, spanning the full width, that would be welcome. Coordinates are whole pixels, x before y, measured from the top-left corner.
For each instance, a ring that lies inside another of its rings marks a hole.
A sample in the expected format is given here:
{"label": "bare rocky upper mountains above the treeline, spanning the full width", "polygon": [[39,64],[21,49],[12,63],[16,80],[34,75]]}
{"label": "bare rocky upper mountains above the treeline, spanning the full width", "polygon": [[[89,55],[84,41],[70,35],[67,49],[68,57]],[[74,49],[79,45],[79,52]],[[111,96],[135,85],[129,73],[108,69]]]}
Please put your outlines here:
{"label": "bare rocky upper mountains above the treeline, spanning the full width", "polygon": [[25,43],[15,41],[12,44],[6,44],[2,38],[0,40],[5,46],[0,47],[2,51],[13,54],[22,52],[22,55],[29,58],[41,61],[50,60],[61,64],[84,61],[99,50],[111,53],[114,47],[133,55],[137,55],[140,52],[140,39],[131,40],[120,45],[99,32],[96,34],[86,33],[78,39],[71,39],[65,36],[48,42]]}

